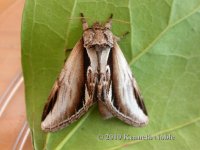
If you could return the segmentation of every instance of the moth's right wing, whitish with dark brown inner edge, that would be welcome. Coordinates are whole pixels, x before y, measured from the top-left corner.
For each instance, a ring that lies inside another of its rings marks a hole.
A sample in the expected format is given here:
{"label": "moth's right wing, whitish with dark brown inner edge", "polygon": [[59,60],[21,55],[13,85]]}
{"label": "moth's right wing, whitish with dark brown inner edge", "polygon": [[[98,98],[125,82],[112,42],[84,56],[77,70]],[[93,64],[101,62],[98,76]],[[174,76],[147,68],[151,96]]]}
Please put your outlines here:
{"label": "moth's right wing, whitish with dark brown inner edge", "polygon": [[106,106],[114,116],[132,126],[148,123],[147,111],[135,78],[117,43],[112,49],[112,98]]}

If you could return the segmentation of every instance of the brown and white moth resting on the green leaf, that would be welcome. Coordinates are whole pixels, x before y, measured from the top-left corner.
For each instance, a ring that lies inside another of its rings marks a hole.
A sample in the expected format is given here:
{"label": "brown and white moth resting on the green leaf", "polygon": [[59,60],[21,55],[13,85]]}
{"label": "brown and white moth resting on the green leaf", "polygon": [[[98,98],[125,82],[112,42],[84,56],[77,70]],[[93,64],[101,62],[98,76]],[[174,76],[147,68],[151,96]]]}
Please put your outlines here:
{"label": "brown and white moth resting on the green leaf", "polygon": [[88,26],[81,14],[83,36],[74,46],[48,97],[41,128],[57,131],[83,116],[98,103],[104,119],[113,116],[142,127],[147,110],[129,65],[111,32],[112,15],[102,25]]}

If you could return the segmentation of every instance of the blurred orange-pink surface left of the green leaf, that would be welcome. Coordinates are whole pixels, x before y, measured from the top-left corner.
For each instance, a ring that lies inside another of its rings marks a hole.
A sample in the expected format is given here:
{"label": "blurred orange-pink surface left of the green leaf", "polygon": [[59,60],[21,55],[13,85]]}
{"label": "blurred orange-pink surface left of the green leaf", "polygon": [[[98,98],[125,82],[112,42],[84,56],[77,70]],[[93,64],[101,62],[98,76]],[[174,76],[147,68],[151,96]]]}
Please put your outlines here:
{"label": "blurred orange-pink surface left of the green leaf", "polygon": [[31,150],[21,69],[25,0],[0,0],[0,149]]}

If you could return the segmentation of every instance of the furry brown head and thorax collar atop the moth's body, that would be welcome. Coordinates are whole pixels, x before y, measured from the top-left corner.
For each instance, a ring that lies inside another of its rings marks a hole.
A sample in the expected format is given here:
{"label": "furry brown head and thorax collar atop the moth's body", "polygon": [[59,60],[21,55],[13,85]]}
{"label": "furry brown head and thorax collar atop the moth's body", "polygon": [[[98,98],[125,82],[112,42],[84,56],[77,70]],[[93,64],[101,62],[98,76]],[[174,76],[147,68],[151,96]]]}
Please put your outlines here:
{"label": "furry brown head and thorax collar atop the moth's body", "polygon": [[106,27],[95,23],[92,28],[88,28],[84,31],[83,41],[85,48],[111,48],[113,47],[113,34]]}

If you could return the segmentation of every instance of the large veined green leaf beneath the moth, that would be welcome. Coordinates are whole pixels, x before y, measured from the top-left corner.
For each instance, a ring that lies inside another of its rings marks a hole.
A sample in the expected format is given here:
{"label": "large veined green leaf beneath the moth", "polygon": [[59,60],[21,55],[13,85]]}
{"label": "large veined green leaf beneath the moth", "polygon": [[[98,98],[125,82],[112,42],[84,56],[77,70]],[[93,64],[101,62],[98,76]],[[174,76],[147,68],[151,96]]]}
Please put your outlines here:
{"label": "large veined green leaf beneath the moth", "polygon": [[[64,49],[73,48],[82,35],[80,12],[90,25],[106,21],[113,13],[113,33],[120,36],[130,31],[119,45],[145,99],[150,116],[147,127],[133,128],[116,118],[103,120],[94,106],[63,130],[41,131],[42,110],[63,66]],[[22,65],[34,148],[198,149],[199,22],[199,0],[26,0]],[[147,135],[175,139],[126,139]]]}

